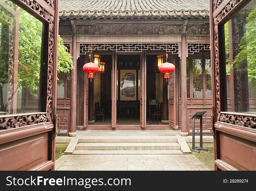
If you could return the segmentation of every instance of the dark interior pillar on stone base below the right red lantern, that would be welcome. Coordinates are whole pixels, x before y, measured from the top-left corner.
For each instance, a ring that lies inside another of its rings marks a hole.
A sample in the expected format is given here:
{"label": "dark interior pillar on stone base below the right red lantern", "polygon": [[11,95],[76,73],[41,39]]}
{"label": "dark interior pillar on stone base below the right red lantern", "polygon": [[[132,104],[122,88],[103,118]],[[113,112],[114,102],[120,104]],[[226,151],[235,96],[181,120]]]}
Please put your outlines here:
{"label": "dark interior pillar on stone base below the right red lantern", "polygon": [[162,124],[169,124],[168,118],[168,82],[166,82],[166,78],[163,78],[163,120]]}

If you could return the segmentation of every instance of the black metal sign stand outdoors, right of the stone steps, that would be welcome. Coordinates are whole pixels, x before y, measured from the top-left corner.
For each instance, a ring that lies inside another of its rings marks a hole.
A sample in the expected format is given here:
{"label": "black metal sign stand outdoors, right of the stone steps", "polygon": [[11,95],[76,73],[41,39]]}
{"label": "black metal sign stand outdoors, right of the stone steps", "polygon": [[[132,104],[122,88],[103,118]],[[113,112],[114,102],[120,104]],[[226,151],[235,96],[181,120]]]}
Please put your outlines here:
{"label": "black metal sign stand outdoors, right of the stone steps", "polygon": [[[189,120],[192,119],[192,149],[191,151],[200,153],[200,150],[208,151],[203,148],[203,115],[206,111],[197,111]],[[200,147],[195,147],[195,119],[200,119]]]}

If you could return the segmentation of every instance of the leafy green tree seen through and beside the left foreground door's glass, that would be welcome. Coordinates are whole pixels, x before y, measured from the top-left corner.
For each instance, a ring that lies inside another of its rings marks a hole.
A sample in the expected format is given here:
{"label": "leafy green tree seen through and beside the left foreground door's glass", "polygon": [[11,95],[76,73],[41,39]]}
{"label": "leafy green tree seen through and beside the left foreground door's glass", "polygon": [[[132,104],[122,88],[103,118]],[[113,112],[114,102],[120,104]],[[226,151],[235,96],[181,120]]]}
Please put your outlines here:
{"label": "leafy green tree seen through and beside the left foreground door's glass", "polygon": [[[7,12],[5,10],[5,12]],[[3,58],[3,55],[8,54],[8,33],[3,29],[6,29],[6,22],[4,16],[10,14],[2,11],[0,15],[0,42],[1,45],[6,45],[3,48],[1,46],[0,55],[0,90],[4,84],[8,82],[8,58]],[[7,17],[6,16],[6,17]],[[8,32],[8,28],[7,28]],[[42,34],[43,24],[41,21],[30,15],[23,9],[20,9],[19,13],[19,56],[18,56],[18,93],[21,93],[22,88],[26,88],[33,96],[37,96],[38,84],[40,80],[40,67],[41,67],[41,47],[42,47]],[[67,48],[63,44],[61,37],[58,37],[58,72],[69,73],[74,68],[72,57],[67,52]],[[1,108],[5,108],[3,105],[3,92],[0,91],[0,103]]]}

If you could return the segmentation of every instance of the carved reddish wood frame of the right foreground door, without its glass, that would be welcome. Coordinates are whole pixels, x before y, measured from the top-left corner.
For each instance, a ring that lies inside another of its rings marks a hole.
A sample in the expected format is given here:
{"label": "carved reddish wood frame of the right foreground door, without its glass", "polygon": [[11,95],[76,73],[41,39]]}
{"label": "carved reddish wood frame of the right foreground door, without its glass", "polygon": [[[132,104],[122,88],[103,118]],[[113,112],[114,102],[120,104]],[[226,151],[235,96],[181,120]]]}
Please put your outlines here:
{"label": "carved reddish wood frame of the right foreground door, without its glass", "polygon": [[[214,169],[255,170],[256,115],[224,112],[227,101],[224,23],[250,0],[211,0],[211,60],[214,102]],[[225,52],[225,51],[224,51]]]}

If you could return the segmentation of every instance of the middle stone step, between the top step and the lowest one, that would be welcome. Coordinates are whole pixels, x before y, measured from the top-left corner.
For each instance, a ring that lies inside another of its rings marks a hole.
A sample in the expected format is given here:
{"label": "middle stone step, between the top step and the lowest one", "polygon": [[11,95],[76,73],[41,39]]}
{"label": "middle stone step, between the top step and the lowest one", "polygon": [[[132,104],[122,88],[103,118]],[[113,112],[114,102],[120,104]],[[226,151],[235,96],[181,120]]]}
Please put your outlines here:
{"label": "middle stone step, between the top step and the lowest one", "polygon": [[179,150],[177,142],[89,142],[78,143],[76,150]]}

